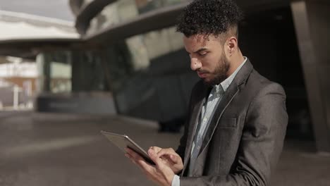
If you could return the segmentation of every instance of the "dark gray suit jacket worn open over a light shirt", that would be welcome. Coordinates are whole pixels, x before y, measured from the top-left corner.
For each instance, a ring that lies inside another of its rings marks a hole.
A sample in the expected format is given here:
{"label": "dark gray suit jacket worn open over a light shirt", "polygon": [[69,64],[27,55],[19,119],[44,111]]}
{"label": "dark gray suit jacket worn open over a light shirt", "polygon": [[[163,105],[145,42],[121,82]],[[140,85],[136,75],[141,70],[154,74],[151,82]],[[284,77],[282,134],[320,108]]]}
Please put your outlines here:
{"label": "dark gray suit jacket worn open over a light shirt", "polygon": [[268,185],[286,134],[286,94],[248,60],[216,108],[193,177],[187,177],[193,129],[210,89],[197,82],[190,97],[189,118],[177,150],[184,163],[181,185]]}

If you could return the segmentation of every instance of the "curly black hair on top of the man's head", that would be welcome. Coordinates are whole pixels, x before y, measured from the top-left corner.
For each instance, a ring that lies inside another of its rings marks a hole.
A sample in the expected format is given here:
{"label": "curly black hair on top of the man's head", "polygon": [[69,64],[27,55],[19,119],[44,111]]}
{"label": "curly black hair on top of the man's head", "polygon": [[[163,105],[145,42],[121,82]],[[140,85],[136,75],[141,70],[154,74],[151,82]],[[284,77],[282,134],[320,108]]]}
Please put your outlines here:
{"label": "curly black hair on top of the man's head", "polygon": [[178,18],[177,32],[185,37],[197,34],[218,36],[236,27],[243,12],[232,0],[195,0]]}

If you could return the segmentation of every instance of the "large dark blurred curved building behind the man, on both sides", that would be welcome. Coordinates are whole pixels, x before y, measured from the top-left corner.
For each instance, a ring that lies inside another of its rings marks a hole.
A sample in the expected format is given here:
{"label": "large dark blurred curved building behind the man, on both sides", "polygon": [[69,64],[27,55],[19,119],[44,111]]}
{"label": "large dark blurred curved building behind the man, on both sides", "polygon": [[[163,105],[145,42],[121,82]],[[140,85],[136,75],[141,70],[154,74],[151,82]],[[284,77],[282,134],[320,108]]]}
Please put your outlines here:
{"label": "large dark blurred curved building behind the man, on both sides", "polygon": [[[43,27],[49,37],[3,39],[0,54],[36,61],[36,82],[12,82],[17,92],[29,92],[29,86],[37,91],[27,96],[35,95],[36,111],[121,114],[176,130],[198,80],[175,32],[188,2],[70,0],[79,37],[64,22],[42,26],[21,16],[20,24]],[[286,90],[288,137],[315,140],[319,151],[330,151],[329,1],[237,2],[245,11],[240,49],[259,73]],[[13,25],[13,15],[3,13],[0,18]]]}

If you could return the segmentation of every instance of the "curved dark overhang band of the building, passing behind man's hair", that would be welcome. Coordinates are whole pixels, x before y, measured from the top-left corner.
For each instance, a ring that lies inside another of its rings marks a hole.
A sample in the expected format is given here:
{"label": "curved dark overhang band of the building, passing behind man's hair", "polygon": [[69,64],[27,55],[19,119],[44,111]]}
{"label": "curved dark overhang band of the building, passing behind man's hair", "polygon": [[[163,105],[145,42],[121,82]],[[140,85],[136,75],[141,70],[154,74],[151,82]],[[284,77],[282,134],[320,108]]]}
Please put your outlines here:
{"label": "curved dark overhang band of the building, passing behind man's hair", "polygon": [[[95,18],[102,12],[103,8],[116,0],[70,0],[72,9],[79,9],[75,27],[82,35],[82,38],[87,42],[109,43],[117,39],[123,39],[133,35],[139,35],[151,30],[157,30],[164,27],[175,25],[176,18],[181,13],[183,8],[189,4],[191,0],[182,1],[179,4],[156,8],[152,11],[142,13],[133,19],[126,20],[114,25],[109,25],[105,28],[92,33],[92,35],[85,35],[92,18]],[[121,1],[121,0],[118,0]],[[133,1],[133,0],[132,0]],[[84,3],[85,4],[84,4]],[[289,0],[255,0],[255,1],[237,1],[246,14],[255,13],[261,10],[276,8],[278,6],[290,5]],[[80,6],[78,8],[78,6]]]}

